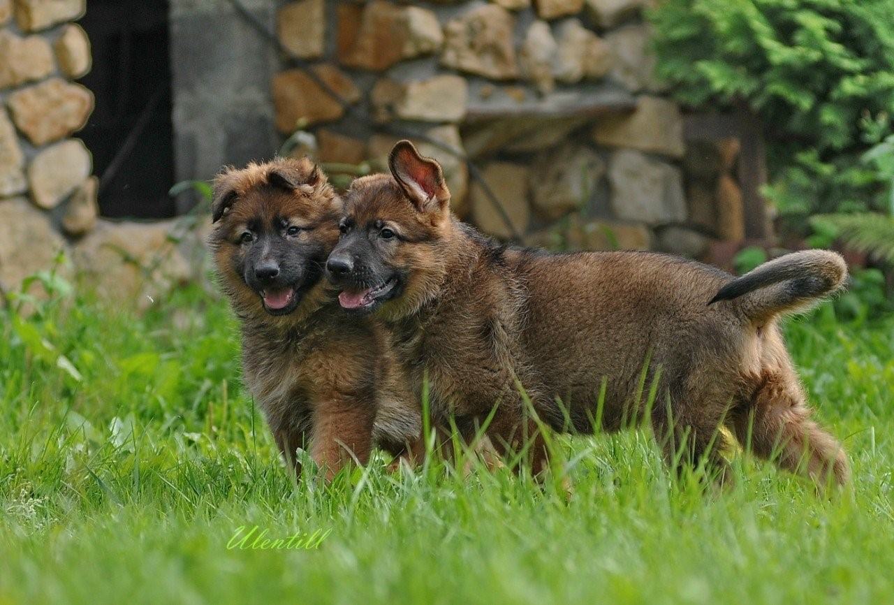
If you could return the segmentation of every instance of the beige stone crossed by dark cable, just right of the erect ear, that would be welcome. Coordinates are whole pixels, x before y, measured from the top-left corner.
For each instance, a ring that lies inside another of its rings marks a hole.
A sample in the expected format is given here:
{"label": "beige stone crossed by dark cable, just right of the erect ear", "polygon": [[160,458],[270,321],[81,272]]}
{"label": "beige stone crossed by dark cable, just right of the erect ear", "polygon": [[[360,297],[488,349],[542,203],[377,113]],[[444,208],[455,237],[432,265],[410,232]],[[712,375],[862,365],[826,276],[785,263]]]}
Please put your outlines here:
{"label": "beige stone crossed by dark cable, just right of the erect ear", "polygon": [[485,189],[472,182],[469,192],[472,221],[481,231],[500,239],[525,234],[531,219],[531,209],[527,203],[527,172],[525,166],[508,162],[492,162],[481,172],[485,183],[506,211],[515,233],[502,213],[494,207],[493,200],[485,194]]}

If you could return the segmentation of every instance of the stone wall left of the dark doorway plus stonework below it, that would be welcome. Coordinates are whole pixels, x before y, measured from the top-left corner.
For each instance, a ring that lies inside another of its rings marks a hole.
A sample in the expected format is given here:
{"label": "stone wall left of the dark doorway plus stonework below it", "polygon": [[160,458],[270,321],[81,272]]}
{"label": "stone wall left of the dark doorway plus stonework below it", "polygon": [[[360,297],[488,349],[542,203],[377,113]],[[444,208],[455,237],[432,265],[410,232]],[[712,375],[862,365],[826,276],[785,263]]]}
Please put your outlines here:
{"label": "stone wall left of the dark doorway plus stonework below it", "polygon": [[85,9],[86,0],[0,0],[0,288],[18,290],[63,251],[63,272],[145,307],[144,294],[193,272],[172,239],[179,223],[97,216],[91,155],[73,138],[94,107],[72,81],[91,66],[89,39],[73,22]]}

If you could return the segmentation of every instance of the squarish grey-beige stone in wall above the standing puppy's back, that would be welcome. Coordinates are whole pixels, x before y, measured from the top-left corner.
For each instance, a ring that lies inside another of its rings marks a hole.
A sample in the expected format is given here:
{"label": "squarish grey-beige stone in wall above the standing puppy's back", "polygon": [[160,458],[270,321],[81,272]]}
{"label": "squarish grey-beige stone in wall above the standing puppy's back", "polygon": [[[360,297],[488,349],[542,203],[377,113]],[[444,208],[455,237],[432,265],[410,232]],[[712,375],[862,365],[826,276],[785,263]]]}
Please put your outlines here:
{"label": "squarish grey-beige stone in wall above the standing puppy's back", "polygon": [[611,209],[615,216],[648,224],[686,221],[686,197],[679,168],[621,149],[609,161]]}

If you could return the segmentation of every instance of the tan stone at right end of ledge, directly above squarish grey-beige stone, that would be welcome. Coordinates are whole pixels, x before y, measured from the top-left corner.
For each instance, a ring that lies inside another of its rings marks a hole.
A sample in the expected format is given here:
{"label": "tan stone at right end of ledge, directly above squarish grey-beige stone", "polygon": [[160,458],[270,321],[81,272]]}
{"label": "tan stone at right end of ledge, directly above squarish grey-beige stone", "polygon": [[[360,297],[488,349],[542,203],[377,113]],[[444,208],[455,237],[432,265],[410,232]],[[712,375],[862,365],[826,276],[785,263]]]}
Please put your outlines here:
{"label": "tan stone at right end of ledge, directly above squarish grey-beige stone", "polygon": [[683,156],[683,119],[677,104],[661,97],[639,97],[633,113],[604,117],[593,130],[599,145],[632,147],[640,151]]}

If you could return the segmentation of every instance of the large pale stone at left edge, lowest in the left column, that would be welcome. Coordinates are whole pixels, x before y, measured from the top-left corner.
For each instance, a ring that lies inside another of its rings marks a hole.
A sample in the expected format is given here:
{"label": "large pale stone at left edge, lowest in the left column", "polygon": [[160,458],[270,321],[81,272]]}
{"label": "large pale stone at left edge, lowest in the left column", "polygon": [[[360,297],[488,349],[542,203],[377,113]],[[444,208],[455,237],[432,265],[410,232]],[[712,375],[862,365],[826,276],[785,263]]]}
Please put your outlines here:
{"label": "large pale stone at left edge, lowest in the left column", "polygon": [[65,240],[49,217],[24,197],[0,199],[0,285],[19,290],[21,281],[50,269]]}

